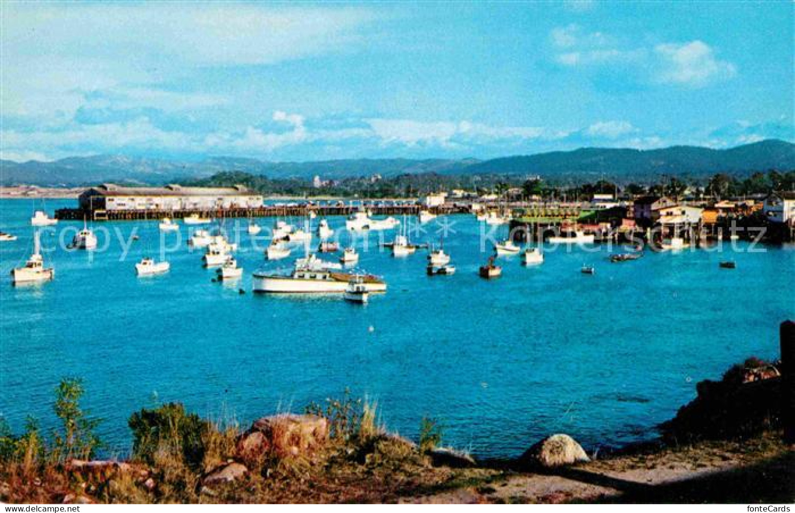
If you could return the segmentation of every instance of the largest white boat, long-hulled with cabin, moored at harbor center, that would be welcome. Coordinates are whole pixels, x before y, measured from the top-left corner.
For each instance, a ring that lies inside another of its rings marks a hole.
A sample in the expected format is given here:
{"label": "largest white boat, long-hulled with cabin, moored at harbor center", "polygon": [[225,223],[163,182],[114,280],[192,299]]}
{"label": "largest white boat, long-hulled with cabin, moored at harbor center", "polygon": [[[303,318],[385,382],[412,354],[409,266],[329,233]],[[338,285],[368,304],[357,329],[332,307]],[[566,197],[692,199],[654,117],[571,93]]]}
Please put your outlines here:
{"label": "largest white boat, long-hulled with cabin, moored at harbor center", "polygon": [[[296,264],[287,275],[254,272],[254,292],[268,294],[341,294],[355,278],[349,272],[316,271]],[[360,275],[368,292],[386,292],[386,282],[377,276]]]}

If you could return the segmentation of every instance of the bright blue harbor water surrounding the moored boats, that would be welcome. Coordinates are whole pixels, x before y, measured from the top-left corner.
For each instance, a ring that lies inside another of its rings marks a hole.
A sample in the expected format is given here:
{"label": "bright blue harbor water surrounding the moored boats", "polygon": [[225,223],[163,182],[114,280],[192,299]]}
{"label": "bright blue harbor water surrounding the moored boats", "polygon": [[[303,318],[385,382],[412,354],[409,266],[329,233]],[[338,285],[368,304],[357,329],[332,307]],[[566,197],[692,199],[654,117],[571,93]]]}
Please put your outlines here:
{"label": "bright blue harbor water surrounding the moored boats", "polygon": [[[155,222],[96,223],[141,238],[125,260],[116,239],[107,251],[50,250],[56,280],[13,287],[9,271],[32,247],[33,208],[0,201],[0,230],[19,236],[0,243],[0,414],[17,431],[25,415],[53,426],[53,389],[61,376],[80,376],[85,406],[121,453],[130,447],[126,420],[141,407],[181,401],[245,426],[345,388],[377,399],[390,430],[416,437],[427,415],[440,419],[445,442],[482,456],[521,453],[553,432],[587,446],[621,444],[653,436],[699,380],[750,355],[777,358],[778,324],[795,318],[791,246],[647,252],[622,264],[607,262],[607,249],[560,249],[535,268],[501,259],[502,278],[487,281],[477,276],[486,257],[471,216],[443,221],[452,223],[444,245],[455,276],[425,276],[425,253],[363,253],[360,267],[389,284],[364,307],[252,295],[250,272],[289,262],[265,262],[246,233],[241,284],[211,283],[201,253],[184,244],[169,253],[169,274],[139,279],[133,266],[155,253]],[[68,241],[77,226],[61,222],[43,242]],[[173,245],[176,235],[167,237]],[[371,236],[370,247],[376,242]],[[719,269],[729,258],[737,269]],[[582,264],[594,264],[595,276],[582,275]]]}

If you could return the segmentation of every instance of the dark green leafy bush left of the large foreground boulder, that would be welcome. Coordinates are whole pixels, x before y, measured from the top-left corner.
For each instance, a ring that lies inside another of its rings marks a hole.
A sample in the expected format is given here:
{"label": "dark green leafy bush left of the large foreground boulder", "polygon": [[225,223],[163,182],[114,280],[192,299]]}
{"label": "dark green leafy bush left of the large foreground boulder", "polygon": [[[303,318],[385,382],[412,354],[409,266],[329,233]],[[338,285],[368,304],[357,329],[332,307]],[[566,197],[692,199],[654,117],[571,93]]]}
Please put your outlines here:
{"label": "dark green leafy bush left of the large foreground boulder", "polygon": [[155,409],[143,408],[130,416],[135,457],[153,465],[155,454],[166,451],[179,455],[191,469],[200,470],[204,459],[203,435],[210,422],[195,413],[188,414],[181,403],[164,404]]}

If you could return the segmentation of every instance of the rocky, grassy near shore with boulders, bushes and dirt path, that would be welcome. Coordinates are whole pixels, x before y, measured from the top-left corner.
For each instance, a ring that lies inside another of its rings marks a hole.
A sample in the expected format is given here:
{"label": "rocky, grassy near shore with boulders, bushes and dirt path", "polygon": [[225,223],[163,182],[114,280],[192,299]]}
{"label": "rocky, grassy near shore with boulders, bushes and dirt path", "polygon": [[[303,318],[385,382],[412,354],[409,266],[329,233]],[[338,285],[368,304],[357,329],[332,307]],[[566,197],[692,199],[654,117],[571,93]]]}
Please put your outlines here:
{"label": "rocky, grassy near shore with boulders, bushes and dirt path", "polygon": [[[130,418],[129,461],[72,457],[75,446],[48,448],[35,430],[0,436],[0,500],[790,503],[795,446],[783,441],[784,386],[778,368],[750,360],[699,384],[699,397],[661,426],[659,440],[593,454],[554,434],[507,461],[440,447],[432,422],[419,443],[390,434],[374,422],[374,406],[351,399],[264,417],[243,431],[166,404]],[[71,426],[72,435],[86,434],[80,422]]]}

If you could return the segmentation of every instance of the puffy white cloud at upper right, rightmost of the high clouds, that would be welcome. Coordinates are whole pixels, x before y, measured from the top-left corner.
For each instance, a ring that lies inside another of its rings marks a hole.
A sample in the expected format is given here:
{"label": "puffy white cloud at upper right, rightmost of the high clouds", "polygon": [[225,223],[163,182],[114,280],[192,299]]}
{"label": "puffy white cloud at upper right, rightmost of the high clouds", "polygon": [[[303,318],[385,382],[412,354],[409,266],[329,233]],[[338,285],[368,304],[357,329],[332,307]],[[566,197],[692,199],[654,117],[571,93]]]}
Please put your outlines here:
{"label": "puffy white cloud at upper right, rightmost of the high clouds", "polygon": [[715,58],[715,52],[703,41],[658,44],[654,52],[661,59],[658,79],[690,87],[730,79],[737,68],[730,62]]}

